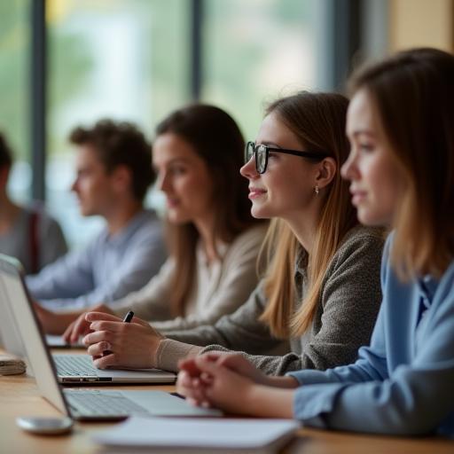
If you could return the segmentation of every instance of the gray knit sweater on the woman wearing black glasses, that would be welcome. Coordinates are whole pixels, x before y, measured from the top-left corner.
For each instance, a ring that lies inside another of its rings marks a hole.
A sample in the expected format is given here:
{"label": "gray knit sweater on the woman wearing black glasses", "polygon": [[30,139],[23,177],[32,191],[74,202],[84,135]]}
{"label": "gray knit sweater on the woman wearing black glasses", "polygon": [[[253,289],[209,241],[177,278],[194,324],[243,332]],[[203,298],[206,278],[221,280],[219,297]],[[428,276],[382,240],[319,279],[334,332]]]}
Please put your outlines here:
{"label": "gray knit sweater on the woman wearing black glasses", "polygon": [[[160,341],[156,366],[176,371],[178,359],[209,350],[243,352],[272,375],[305,368],[323,371],[355,361],[357,349],[369,343],[380,308],[383,243],[383,235],[375,229],[358,226],[348,232],[326,270],[312,325],[301,338],[290,340],[291,353],[270,356],[277,348],[288,352],[288,343],[273,337],[259,321],[266,305],[261,283],[243,306],[215,325],[164,333],[167,339]],[[295,265],[295,308],[307,286],[303,262],[300,258]]]}

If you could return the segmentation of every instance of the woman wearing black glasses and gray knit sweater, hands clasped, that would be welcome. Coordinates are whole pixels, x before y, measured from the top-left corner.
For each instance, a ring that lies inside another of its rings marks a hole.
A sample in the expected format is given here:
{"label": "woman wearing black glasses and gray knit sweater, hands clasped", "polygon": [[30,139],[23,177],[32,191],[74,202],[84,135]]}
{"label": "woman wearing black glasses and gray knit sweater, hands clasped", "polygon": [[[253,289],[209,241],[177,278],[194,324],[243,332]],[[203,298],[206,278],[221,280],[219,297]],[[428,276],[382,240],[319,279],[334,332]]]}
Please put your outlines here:
{"label": "woman wearing black glasses and gray knit sweater, hands clasped", "polygon": [[[121,324],[91,312],[84,343],[98,367],[176,371],[179,359],[225,348],[244,351],[270,374],[355,359],[380,306],[383,239],[380,231],[358,226],[340,178],[348,156],[347,106],[337,94],[279,99],[255,144],[248,143],[241,173],[249,180],[252,214],[273,218],[267,270],[248,301],[215,325],[181,332],[159,333],[139,318]],[[103,356],[105,350],[112,353]]]}

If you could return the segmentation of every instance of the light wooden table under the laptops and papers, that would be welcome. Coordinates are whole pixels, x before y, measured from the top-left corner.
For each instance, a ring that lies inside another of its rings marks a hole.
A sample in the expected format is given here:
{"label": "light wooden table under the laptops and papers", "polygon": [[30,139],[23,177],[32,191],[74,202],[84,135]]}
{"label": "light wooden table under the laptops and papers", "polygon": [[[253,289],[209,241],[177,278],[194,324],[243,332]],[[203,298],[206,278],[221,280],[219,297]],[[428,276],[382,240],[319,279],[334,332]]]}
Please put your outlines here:
{"label": "light wooden table under the laptops and papers", "polygon": [[[175,387],[147,385],[128,387],[128,389],[172,391]],[[38,436],[27,434],[16,426],[16,417],[24,415],[59,416],[59,411],[39,395],[32,377],[0,376],[1,454],[96,453],[98,447],[90,442],[90,434],[112,426],[112,423],[76,423],[72,434]],[[409,439],[301,429],[299,437],[284,452],[286,454],[296,452],[304,454],[454,454],[454,442],[437,438]]]}

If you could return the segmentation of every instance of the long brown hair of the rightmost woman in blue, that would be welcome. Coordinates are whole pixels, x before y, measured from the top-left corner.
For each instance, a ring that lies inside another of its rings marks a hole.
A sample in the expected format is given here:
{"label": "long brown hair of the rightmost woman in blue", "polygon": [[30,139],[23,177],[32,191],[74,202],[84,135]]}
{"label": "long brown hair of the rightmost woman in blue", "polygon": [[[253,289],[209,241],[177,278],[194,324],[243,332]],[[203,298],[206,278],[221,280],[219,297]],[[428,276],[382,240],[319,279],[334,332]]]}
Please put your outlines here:
{"label": "long brown hair of the rightmost woman in blue", "polygon": [[399,276],[440,277],[454,256],[454,56],[403,51],[353,75],[403,176],[391,260]]}

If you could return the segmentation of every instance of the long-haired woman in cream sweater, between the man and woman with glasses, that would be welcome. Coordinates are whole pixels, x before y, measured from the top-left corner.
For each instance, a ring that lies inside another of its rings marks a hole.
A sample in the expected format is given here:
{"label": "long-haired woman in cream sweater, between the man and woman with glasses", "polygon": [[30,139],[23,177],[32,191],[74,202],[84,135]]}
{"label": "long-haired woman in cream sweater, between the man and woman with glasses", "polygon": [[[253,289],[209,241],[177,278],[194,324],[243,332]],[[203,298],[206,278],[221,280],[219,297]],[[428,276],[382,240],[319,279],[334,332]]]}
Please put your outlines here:
{"label": "long-haired woman in cream sweater, between the man and woman with glasses", "polygon": [[[236,122],[215,106],[186,106],[160,122],[153,166],[166,196],[170,256],[144,288],[97,310],[123,316],[132,309],[160,329],[188,329],[247,300],[267,223],[250,214],[239,176],[244,146]],[[48,332],[66,329],[68,341],[90,330],[81,312],[38,314]]]}

